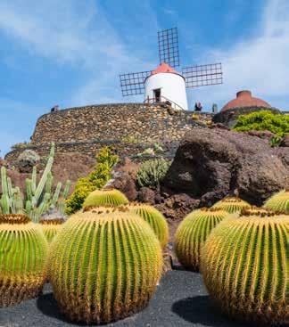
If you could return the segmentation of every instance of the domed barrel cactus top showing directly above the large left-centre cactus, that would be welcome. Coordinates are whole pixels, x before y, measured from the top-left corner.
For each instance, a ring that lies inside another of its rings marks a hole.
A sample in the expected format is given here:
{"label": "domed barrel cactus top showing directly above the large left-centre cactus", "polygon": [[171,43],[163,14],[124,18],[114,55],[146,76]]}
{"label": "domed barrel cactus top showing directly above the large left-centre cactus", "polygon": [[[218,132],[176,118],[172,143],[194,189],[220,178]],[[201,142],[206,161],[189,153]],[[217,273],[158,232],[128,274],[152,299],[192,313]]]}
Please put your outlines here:
{"label": "domed barrel cactus top showing directly above the large left-centre cactus", "polygon": [[84,201],[83,208],[111,206],[118,207],[128,204],[127,197],[119,190],[95,190],[91,192]]}

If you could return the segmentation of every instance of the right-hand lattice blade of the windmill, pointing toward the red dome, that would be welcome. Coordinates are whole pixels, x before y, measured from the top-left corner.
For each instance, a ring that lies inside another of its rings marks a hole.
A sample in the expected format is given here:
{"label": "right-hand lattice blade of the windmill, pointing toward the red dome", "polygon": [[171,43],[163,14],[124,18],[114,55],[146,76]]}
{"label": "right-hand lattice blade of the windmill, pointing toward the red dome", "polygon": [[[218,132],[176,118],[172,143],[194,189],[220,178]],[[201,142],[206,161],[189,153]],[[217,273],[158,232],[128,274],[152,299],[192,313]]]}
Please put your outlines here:
{"label": "right-hand lattice blade of the windmill, pointing toward the red dome", "polygon": [[215,86],[223,84],[223,72],[221,63],[210,63],[184,67],[182,75],[186,79],[186,87]]}

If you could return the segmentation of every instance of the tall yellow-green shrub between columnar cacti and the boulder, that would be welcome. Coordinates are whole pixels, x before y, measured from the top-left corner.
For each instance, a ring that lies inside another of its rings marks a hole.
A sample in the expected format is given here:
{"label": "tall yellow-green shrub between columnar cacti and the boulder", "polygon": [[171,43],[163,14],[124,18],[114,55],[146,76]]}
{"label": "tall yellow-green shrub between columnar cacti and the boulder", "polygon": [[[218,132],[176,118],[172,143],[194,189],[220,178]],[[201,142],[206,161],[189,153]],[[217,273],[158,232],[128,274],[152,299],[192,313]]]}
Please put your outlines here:
{"label": "tall yellow-green shrub between columnar cacti and the boulder", "polygon": [[105,146],[96,156],[95,170],[88,176],[79,178],[74,192],[66,201],[66,213],[68,215],[82,208],[87,195],[97,189],[101,189],[111,178],[111,169],[119,161],[119,157],[113,153],[113,149]]}

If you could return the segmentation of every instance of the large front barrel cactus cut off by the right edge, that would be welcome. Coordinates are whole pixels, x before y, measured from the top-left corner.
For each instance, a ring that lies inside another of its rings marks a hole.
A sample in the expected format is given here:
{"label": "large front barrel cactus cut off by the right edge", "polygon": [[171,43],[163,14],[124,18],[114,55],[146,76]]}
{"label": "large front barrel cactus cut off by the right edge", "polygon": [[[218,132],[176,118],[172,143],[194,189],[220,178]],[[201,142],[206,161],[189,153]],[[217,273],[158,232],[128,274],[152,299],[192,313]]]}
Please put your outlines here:
{"label": "large front barrel cactus cut off by the right edge", "polygon": [[288,215],[243,212],[211,232],[201,271],[227,315],[260,326],[288,321],[288,226]]}

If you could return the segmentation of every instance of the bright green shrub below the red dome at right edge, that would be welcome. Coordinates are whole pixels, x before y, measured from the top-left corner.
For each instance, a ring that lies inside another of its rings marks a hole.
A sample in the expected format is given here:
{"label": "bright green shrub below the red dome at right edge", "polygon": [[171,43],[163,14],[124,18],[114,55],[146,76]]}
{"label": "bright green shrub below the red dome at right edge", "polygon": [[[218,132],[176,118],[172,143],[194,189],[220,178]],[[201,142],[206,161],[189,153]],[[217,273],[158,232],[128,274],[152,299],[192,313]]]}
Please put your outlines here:
{"label": "bright green shrub below the red dome at right edge", "polygon": [[289,134],[289,116],[260,110],[239,116],[233,129],[237,132],[269,131],[282,137]]}

